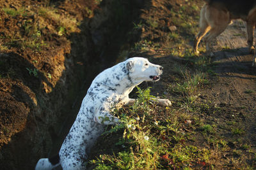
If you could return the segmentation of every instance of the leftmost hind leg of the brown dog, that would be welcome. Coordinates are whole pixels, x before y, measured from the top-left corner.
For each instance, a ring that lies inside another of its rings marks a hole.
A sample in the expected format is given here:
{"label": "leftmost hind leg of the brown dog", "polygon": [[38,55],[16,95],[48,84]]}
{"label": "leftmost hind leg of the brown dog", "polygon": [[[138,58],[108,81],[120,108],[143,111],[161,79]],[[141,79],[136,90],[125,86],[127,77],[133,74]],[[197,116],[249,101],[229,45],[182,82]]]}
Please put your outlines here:
{"label": "leftmost hind leg of the brown dog", "polygon": [[193,50],[196,53],[199,53],[198,51],[198,44],[200,43],[201,39],[205,36],[205,34],[211,29],[210,25],[207,23],[207,20],[205,19],[205,9],[206,5],[202,8],[200,12],[200,29],[198,34],[196,35]]}

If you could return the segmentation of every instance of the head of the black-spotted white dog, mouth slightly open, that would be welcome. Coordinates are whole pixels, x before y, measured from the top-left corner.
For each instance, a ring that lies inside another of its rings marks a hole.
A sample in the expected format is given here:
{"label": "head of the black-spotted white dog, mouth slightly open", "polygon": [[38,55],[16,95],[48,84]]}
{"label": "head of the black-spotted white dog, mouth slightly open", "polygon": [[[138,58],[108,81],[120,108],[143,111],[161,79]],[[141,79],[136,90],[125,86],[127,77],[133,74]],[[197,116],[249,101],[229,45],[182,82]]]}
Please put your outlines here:
{"label": "head of the black-spotted white dog, mouth slightly open", "polygon": [[163,67],[152,64],[148,59],[133,57],[126,60],[126,68],[132,80],[135,81],[158,81],[163,73]]}

